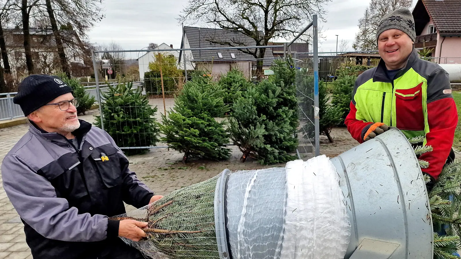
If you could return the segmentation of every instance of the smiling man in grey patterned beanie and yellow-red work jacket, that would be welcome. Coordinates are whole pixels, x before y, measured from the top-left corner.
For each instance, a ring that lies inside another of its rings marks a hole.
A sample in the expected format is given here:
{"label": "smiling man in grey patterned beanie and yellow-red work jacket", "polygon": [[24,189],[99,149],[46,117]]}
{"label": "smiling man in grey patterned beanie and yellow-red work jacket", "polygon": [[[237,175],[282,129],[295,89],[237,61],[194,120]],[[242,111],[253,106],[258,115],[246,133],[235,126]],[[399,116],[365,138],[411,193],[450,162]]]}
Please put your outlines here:
{"label": "smiling man in grey patterned beanie and yellow-red work jacket", "polygon": [[[431,177],[428,191],[446,162],[458,114],[451,95],[448,73],[439,65],[420,59],[411,12],[399,9],[381,19],[377,33],[381,60],[355,81],[350,112],[345,124],[360,143],[389,129],[401,130],[407,138],[425,136],[433,151],[420,156],[430,163],[423,173]],[[448,159],[447,159],[448,157]]]}

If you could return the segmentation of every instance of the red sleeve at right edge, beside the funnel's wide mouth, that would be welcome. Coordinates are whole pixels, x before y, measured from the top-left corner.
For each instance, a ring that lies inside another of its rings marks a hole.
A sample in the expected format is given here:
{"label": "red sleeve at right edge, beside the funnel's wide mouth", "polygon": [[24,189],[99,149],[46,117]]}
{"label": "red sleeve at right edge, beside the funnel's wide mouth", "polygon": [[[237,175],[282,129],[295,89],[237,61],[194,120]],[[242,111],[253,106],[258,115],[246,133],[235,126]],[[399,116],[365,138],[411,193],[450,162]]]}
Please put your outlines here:
{"label": "red sleeve at right edge, beside the funnel's wide mouth", "polygon": [[423,171],[437,179],[450,153],[458,124],[455,100],[443,98],[428,103],[427,120],[429,132],[426,133],[426,145],[432,146],[433,151],[422,154],[420,159],[429,162],[429,168]]}

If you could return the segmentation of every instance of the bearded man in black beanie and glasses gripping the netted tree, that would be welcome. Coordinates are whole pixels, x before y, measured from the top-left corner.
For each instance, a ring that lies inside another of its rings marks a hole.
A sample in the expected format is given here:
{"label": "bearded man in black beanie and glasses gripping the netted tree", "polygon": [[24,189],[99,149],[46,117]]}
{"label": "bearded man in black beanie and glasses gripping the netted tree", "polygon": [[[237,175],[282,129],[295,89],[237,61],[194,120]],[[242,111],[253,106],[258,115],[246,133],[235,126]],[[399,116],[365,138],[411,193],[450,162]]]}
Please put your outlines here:
{"label": "bearded man in black beanie and glasses gripping the netted tree", "polygon": [[143,258],[118,236],[139,241],[147,223],[108,217],[162,196],[128,169],[111,136],[77,119],[78,100],[58,77],[26,77],[13,102],[30,129],[3,160],[3,187],[34,259]]}

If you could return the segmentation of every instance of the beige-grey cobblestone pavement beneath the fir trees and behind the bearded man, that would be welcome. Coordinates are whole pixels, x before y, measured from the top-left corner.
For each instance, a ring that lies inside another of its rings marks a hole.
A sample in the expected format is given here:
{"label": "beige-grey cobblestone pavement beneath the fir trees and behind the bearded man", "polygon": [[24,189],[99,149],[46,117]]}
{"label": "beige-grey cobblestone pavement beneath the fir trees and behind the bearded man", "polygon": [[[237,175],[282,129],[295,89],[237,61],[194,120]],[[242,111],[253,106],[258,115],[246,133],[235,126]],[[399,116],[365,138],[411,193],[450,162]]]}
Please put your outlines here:
{"label": "beige-grey cobblestone pavement beneath the fir trees and behind the bearded man", "polygon": [[[160,112],[164,112],[163,100],[151,99],[149,103],[158,106],[159,112],[157,112],[156,118],[160,121]],[[165,100],[167,111],[173,105],[172,99]],[[79,118],[94,123],[93,116],[98,114],[98,110],[93,110],[85,116],[79,116]],[[0,129],[0,165],[5,155],[28,129],[28,124]],[[249,170],[265,167],[257,161],[249,159],[246,163],[240,163],[238,160],[242,153],[236,147],[231,149],[232,158],[228,161],[191,160],[187,165],[183,165],[180,153],[167,148],[158,148],[142,155],[130,156],[130,169],[135,171],[138,177],[156,194],[165,195],[181,187],[207,180],[226,168]],[[0,259],[31,259],[30,249],[25,242],[24,225],[8,200],[1,183],[0,178]],[[126,207],[127,211],[135,209],[129,205]]]}

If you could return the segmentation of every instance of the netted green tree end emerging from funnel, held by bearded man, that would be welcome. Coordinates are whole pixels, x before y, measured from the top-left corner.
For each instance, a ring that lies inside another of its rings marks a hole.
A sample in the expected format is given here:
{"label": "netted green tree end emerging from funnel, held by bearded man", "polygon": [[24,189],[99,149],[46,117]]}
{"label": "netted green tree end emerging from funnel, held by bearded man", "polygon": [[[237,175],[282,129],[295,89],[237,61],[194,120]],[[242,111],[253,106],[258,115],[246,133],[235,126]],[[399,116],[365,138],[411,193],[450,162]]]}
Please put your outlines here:
{"label": "netted green tree end emerging from funnel, held by bearded man", "polygon": [[147,240],[122,238],[124,242],[153,259],[218,259],[213,211],[218,177],[176,190],[152,206],[123,215],[149,223],[144,229]]}

